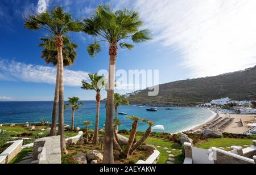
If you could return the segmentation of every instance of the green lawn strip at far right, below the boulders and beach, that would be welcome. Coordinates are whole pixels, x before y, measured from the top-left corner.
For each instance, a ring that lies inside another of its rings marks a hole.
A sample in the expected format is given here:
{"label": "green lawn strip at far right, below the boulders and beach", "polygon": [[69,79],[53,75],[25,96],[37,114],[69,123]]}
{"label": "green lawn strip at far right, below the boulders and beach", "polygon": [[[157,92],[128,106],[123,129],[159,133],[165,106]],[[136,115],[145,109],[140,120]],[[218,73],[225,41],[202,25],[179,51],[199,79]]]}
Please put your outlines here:
{"label": "green lawn strip at far right, below the boulders and beach", "polygon": [[[196,147],[209,149],[210,147],[231,147],[231,146],[242,146],[243,148],[247,145],[253,144],[252,139],[230,139],[230,138],[219,138],[219,139],[207,139],[196,144]],[[225,148],[226,151],[231,149]]]}

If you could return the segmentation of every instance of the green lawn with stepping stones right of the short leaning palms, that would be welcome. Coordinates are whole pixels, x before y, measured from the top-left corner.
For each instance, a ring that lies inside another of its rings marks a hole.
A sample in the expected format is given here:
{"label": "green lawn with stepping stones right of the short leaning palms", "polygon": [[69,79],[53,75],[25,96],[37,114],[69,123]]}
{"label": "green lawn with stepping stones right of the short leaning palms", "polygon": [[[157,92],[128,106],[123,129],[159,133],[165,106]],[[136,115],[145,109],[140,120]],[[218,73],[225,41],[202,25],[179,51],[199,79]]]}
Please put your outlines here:
{"label": "green lawn with stepping stones right of the short leaning palms", "polygon": [[[127,138],[129,138],[129,135],[123,135],[126,136]],[[139,140],[141,138],[141,136],[137,136],[137,140]],[[166,161],[168,161],[168,158],[170,157],[169,154],[173,154],[174,155],[174,159],[175,161],[173,161],[175,164],[182,164],[184,161],[184,157],[182,155],[181,150],[181,145],[177,144],[175,142],[171,142],[168,140],[163,140],[162,138],[155,138],[155,137],[148,137],[146,142],[147,144],[152,144],[154,145],[157,150],[160,152],[160,159],[158,161],[158,164],[166,164]],[[157,146],[160,146],[160,148],[158,148]],[[171,151],[171,153],[166,152],[167,150],[164,149],[164,147],[169,148],[169,151]],[[172,149],[176,149],[175,151],[173,151]]]}

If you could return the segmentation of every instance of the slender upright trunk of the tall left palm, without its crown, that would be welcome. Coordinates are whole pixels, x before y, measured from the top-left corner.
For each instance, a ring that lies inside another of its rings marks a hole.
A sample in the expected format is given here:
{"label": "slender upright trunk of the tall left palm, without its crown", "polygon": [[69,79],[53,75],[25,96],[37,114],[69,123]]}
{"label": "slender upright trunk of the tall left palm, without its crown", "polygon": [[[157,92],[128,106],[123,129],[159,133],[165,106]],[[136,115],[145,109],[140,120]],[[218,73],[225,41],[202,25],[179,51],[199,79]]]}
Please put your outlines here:
{"label": "slender upright trunk of the tall left palm, without its crown", "polygon": [[67,153],[64,133],[64,70],[63,70],[63,38],[56,36],[55,44],[58,51],[59,62],[59,135],[61,153]]}

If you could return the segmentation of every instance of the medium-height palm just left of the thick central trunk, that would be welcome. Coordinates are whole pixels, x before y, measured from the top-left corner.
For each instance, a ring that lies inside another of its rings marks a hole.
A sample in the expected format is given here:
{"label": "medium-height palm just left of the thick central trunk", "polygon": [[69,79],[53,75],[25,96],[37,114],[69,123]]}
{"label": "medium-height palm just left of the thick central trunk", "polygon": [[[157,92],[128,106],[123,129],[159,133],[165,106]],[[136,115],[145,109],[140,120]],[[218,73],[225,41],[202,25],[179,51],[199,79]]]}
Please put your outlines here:
{"label": "medium-height palm just left of the thick central trunk", "polygon": [[93,134],[93,144],[98,144],[98,123],[100,119],[100,100],[101,100],[101,89],[105,87],[105,78],[104,76],[95,74],[88,74],[90,78],[90,82],[86,82],[86,80],[82,81],[82,89],[85,90],[94,90],[96,91],[96,102],[97,102],[97,112],[95,119],[95,127]]}

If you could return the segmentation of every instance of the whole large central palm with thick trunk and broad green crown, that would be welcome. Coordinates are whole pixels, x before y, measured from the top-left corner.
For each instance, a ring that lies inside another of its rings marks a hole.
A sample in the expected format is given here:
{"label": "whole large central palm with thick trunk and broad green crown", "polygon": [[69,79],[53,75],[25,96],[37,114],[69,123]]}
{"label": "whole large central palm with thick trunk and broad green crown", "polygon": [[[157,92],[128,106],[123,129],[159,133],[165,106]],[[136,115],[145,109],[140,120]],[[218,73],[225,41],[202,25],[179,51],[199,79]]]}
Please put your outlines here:
{"label": "whole large central palm with thick trunk and broad green crown", "polygon": [[113,155],[113,116],[114,116],[114,88],[115,88],[115,61],[117,58],[117,45],[121,48],[133,49],[134,46],[126,41],[143,42],[150,40],[150,32],[147,29],[139,31],[142,27],[142,20],[134,10],[113,11],[109,5],[100,5],[96,9],[96,14],[91,18],[84,19],[82,31],[89,35],[100,37],[94,44],[88,46],[87,51],[94,57],[100,52],[100,42],[109,43],[109,83],[106,108],[106,127],[104,140],[103,163],[114,163]]}

